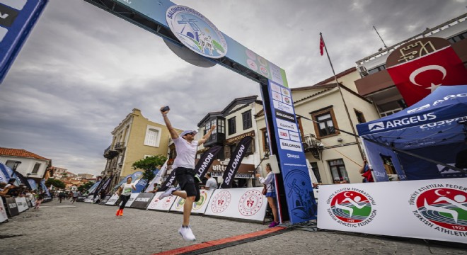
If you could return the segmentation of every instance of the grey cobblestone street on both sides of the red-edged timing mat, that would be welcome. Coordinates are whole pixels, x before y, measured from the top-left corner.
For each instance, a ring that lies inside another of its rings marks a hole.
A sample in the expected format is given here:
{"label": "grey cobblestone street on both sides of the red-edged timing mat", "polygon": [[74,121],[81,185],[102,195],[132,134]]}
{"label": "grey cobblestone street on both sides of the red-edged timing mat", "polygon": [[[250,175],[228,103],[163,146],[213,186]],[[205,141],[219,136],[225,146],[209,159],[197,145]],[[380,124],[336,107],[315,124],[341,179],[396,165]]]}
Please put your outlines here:
{"label": "grey cobblestone street on both sides of the red-edged timing mat", "polygon": [[[267,225],[192,215],[194,243],[178,234],[182,215],[74,203],[45,203],[0,224],[0,254],[155,254],[233,237]],[[467,254],[467,246],[420,239],[294,229],[206,254]]]}

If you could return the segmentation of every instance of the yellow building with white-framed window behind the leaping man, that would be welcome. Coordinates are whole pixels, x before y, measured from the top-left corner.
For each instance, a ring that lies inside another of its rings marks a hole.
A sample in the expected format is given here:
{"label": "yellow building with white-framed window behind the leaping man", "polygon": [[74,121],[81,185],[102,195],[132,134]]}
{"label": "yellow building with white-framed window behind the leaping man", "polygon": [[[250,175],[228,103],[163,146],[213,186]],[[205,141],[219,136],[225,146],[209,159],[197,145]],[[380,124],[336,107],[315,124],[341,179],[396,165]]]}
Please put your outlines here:
{"label": "yellow building with white-framed window behind the leaping man", "polygon": [[[181,130],[177,130],[181,132]],[[113,183],[120,182],[125,176],[141,171],[132,169],[132,164],[145,157],[161,154],[167,156],[170,134],[166,125],[144,118],[139,109],[134,108],[112,131],[112,144],[105,149],[107,159],[103,177],[114,175]]]}

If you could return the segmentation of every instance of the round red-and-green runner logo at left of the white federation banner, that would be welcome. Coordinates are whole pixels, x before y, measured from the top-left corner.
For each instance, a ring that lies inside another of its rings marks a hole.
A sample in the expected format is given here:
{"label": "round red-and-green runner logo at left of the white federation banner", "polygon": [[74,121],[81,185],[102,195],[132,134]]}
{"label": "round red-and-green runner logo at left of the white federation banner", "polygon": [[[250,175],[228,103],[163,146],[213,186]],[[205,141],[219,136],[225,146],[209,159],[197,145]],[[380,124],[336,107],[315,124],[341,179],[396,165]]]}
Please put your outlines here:
{"label": "round red-and-green runner logo at left of the white federation banner", "polygon": [[376,216],[373,198],[357,188],[342,188],[328,198],[329,215],[340,225],[362,227]]}

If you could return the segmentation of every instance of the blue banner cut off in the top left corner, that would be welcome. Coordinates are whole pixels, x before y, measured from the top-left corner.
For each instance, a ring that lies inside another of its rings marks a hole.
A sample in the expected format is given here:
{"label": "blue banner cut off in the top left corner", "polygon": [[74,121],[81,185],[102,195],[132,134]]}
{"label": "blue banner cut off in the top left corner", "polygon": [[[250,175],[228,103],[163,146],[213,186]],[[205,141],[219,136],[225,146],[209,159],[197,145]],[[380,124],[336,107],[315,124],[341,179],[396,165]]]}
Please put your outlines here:
{"label": "blue banner cut off in the top left corner", "polygon": [[0,0],[0,82],[46,4],[47,0]]}

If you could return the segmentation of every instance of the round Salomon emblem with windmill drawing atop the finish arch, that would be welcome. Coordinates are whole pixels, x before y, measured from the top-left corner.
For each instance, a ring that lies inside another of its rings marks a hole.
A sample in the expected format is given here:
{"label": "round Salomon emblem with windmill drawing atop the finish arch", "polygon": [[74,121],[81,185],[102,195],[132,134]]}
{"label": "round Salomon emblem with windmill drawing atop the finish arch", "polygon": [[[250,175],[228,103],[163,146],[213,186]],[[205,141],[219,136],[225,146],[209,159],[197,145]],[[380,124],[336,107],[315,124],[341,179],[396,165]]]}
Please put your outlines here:
{"label": "round Salomon emblem with windmill drawing atop the finish arch", "polygon": [[214,24],[201,13],[187,6],[171,6],[167,9],[168,27],[180,42],[204,57],[224,57],[227,42]]}

